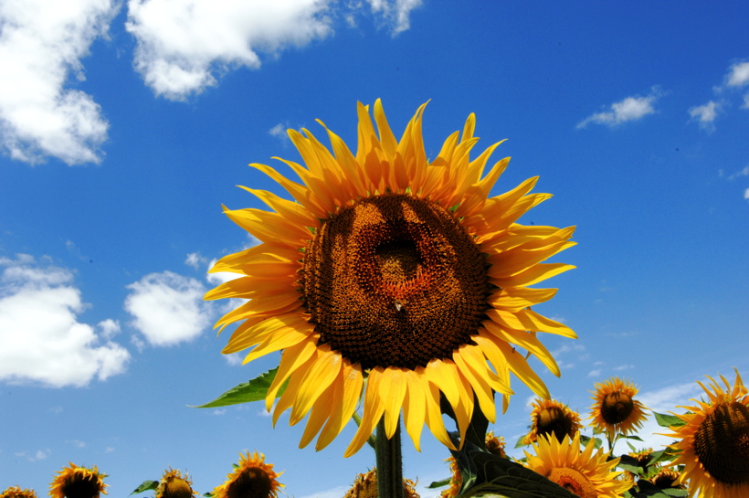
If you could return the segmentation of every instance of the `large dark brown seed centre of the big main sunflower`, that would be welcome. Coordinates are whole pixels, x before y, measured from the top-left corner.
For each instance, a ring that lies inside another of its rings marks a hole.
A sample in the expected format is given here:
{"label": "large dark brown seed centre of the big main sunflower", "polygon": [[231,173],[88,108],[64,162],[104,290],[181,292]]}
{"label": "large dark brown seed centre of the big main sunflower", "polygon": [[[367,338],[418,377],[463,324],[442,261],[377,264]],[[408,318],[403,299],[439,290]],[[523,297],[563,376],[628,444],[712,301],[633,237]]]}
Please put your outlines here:
{"label": "large dark brown seed centre of the big main sunflower", "polygon": [[319,344],[366,368],[426,366],[476,334],[488,308],[486,263],[437,203],[362,199],[307,246],[301,289]]}

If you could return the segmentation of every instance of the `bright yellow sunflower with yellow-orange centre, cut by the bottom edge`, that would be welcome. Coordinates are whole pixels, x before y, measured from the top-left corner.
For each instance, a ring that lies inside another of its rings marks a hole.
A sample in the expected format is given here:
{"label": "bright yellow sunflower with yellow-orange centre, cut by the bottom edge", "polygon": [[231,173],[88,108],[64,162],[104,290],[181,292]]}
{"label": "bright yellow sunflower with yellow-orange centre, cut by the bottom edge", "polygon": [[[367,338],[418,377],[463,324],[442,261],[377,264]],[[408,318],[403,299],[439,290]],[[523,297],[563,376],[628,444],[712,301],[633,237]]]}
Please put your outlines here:
{"label": "bright yellow sunflower with yellow-orange centre, cut by the bottom edge", "polygon": [[532,444],[535,455],[524,451],[524,465],[580,498],[617,498],[631,484],[617,479],[621,472],[611,472],[619,459],[607,461],[603,449],[594,454],[595,446],[591,439],[581,452],[579,432],[572,439],[564,436],[561,442],[551,435],[540,436]]}

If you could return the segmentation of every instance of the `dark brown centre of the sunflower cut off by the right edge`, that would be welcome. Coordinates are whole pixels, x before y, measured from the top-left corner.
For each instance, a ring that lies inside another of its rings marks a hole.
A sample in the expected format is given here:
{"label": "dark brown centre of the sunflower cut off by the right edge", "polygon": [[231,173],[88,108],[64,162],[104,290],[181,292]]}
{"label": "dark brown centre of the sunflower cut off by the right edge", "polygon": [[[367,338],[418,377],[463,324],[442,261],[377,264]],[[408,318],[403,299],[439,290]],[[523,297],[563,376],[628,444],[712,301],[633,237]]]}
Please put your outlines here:
{"label": "dark brown centre of the sunflower cut off by the right edge", "polygon": [[749,482],[749,408],[738,401],[718,405],[694,433],[694,452],[718,482]]}

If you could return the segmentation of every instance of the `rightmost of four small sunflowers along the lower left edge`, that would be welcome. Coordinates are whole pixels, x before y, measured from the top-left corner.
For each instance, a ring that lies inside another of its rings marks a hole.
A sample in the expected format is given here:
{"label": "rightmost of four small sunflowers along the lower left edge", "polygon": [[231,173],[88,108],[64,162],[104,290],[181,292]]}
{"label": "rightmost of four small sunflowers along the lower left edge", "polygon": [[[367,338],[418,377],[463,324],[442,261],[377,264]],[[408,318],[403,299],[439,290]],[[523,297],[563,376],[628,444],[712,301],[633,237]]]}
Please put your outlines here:
{"label": "rightmost of four small sunflowers along the lower left edge", "polygon": [[226,482],[216,486],[213,498],[277,498],[284,487],[277,481],[282,473],[274,472],[273,464],[266,463],[262,453],[239,453],[239,464],[227,474]]}

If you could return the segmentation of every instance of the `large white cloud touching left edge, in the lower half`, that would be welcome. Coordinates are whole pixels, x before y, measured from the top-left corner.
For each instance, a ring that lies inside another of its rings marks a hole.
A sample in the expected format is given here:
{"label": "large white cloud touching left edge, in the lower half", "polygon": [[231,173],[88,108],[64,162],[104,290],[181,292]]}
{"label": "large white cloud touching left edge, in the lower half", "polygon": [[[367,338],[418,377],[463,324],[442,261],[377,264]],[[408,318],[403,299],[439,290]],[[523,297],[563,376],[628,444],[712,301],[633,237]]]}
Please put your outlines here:
{"label": "large white cloud touching left edge, in the lower half", "polygon": [[0,380],[81,387],[125,370],[128,351],[79,323],[87,306],[69,270],[27,255],[0,267]]}

